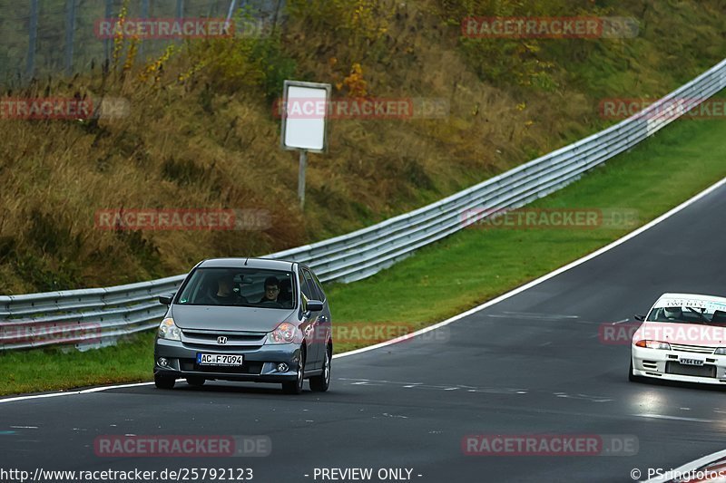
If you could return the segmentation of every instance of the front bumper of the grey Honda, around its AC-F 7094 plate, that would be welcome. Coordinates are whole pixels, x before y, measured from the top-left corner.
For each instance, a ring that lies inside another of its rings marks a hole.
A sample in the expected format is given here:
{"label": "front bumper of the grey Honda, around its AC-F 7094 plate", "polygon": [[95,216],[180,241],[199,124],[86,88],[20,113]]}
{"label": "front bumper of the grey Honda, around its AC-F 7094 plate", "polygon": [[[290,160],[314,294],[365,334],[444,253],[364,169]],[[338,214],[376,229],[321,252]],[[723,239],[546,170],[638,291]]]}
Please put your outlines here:
{"label": "front bumper of the grey Honda, around its AC-F 7094 plate", "polygon": [[[252,348],[243,345],[220,348],[209,346],[189,347],[179,341],[157,339],[154,344],[154,375],[175,378],[203,377],[224,381],[248,382],[291,382],[298,377],[300,348],[298,344],[270,344]],[[199,366],[197,353],[242,354],[244,361],[240,368]],[[167,361],[165,366],[159,359]],[[288,364],[287,372],[279,372],[278,364]]]}

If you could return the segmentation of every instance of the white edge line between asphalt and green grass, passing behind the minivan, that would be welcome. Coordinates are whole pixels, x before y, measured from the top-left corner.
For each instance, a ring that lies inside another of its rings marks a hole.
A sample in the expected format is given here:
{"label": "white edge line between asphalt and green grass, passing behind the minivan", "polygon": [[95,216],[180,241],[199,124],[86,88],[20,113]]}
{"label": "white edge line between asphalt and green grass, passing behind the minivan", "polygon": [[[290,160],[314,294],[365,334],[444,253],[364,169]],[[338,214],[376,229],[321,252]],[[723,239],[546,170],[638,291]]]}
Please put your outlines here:
{"label": "white edge line between asphalt and green grass, passing behind the minivan", "polygon": [[[444,327],[445,325],[453,324],[456,321],[459,321],[471,314],[476,314],[477,312],[481,312],[482,310],[484,310],[488,307],[491,307],[492,305],[499,304],[500,302],[503,302],[508,298],[511,298],[515,295],[519,295],[522,292],[525,292],[526,290],[529,290],[530,288],[532,288],[536,285],[540,285],[540,284],[546,282],[550,278],[554,278],[557,275],[563,274],[564,272],[566,272],[567,270],[570,270],[571,268],[574,268],[575,266],[583,265],[585,262],[592,260],[596,256],[601,256],[601,255],[603,255],[603,253],[609,252],[616,246],[623,245],[623,243],[631,240],[634,237],[637,237],[644,231],[646,231],[652,227],[655,227],[656,225],[658,225],[662,221],[668,219],[669,217],[672,217],[673,215],[675,215],[682,209],[688,208],[689,206],[691,206],[693,203],[695,203],[699,199],[709,195],[711,192],[715,191],[716,189],[721,188],[721,186],[723,186],[724,184],[726,184],[726,178],[721,179],[721,181],[718,181],[717,183],[711,185],[709,188],[704,189],[703,191],[701,191],[701,193],[695,195],[693,198],[683,201],[677,207],[672,208],[670,211],[662,214],[660,217],[657,217],[657,218],[653,219],[652,221],[646,223],[645,225],[643,225],[643,227],[636,229],[635,231],[625,235],[622,238],[618,238],[617,240],[613,241],[613,243],[611,243],[610,245],[603,246],[599,250],[596,250],[593,253],[591,253],[590,255],[583,256],[582,258],[579,258],[572,263],[569,263],[565,266],[561,266],[560,268],[557,268],[556,270],[554,270],[553,272],[550,272],[549,274],[543,275],[525,285],[521,285],[521,286],[515,288],[514,290],[507,292],[504,295],[499,295],[498,297],[495,297],[492,300],[485,302],[484,304],[477,305],[473,309],[469,309],[466,312],[462,312],[461,314],[454,315],[453,317],[450,317],[443,322],[439,322],[438,324],[429,325],[428,327],[419,329],[414,333],[409,333],[407,335],[397,337],[396,339],[392,339],[392,340],[384,342],[384,343],[377,343],[375,345],[369,345],[368,347],[362,347],[360,349],[356,349],[355,351],[349,351],[348,353],[335,354],[335,355],[333,355],[333,359],[338,359],[340,357],[349,357],[351,355],[356,355],[359,353],[368,353],[368,351],[375,351],[377,349],[380,349],[381,347],[388,347],[388,345],[392,345],[394,343],[407,341],[407,340],[411,339],[412,337],[416,337],[423,333],[435,331],[439,327]],[[102,386],[102,387],[86,389],[83,391],[64,391],[64,392],[50,392],[50,393],[45,393],[45,394],[31,394],[28,396],[19,396],[19,397],[15,397],[15,398],[0,399],[0,404],[5,403],[5,402],[12,402],[12,401],[28,401],[28,400],[34,400],[34,399],[53,398],[53,397],[58,397],[58,396],[68,396],[68,395],[74,395],[74,394],[87,394],[89,392],[109,391],[112,389],[121,389],[121,388],[127,388],[127,387],[148,386],[151,384],[153,384],[153,382],[140,382],[137,384],[121,384],[121,385],[115,385],[115,386]]]}

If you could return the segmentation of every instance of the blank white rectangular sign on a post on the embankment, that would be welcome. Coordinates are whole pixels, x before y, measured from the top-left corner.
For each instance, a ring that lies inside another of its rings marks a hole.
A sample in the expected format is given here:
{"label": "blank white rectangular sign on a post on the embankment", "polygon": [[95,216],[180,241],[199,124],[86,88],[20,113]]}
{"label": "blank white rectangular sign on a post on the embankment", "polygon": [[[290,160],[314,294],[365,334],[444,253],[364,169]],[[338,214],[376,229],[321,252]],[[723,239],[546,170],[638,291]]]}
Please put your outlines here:
{"label": "blank white rectangular sign on a post on the embankment", "polygon": [[282,135],[284,150],[299,150],[298,198],[305,207],[305,169],[308,151],[328,151],[328,106],[330,84],[285,81],[282,97]]}

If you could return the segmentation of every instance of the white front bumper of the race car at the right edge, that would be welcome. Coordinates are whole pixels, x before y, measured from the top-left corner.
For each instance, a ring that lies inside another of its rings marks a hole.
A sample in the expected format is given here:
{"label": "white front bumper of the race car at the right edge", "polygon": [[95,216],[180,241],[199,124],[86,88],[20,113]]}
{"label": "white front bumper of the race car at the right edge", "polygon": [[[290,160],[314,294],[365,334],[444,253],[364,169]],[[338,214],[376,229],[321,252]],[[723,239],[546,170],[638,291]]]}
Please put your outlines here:
{"label": "white front bumper of the race car at the right edge", "polygon": [[[631,346],[633,375],[662,381],[726,384],[726,355],[663,351]],[[681,359],[700,359],[702,366],[681,364]]]}

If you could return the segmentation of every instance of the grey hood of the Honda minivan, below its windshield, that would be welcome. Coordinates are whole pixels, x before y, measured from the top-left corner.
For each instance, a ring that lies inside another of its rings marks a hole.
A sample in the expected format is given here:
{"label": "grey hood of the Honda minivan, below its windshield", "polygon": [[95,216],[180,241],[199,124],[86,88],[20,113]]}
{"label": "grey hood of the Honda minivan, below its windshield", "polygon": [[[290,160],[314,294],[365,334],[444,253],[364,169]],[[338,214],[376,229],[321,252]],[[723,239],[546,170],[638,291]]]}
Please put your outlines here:
{"label": "grey hood of the Honda minivan, below its windshield", "polygon": [[176,304],[171,312],[181,329],[250,332],[273,331],[295,313],[290,309]]}

